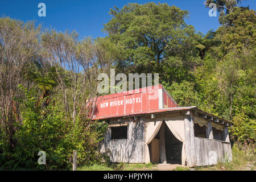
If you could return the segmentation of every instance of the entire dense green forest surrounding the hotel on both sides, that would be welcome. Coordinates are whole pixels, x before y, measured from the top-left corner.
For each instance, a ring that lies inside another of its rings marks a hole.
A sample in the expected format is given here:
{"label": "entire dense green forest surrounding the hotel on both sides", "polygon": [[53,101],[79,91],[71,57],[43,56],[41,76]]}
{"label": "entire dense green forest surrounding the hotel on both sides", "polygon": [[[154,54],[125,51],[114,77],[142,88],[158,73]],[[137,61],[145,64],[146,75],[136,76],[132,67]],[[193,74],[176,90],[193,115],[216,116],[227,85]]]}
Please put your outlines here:
{"label": "entire dense green forest surrounding the hotel on both sides", "polygon": [[[212,1],[207,1],[207,6]],[[196,105],[234,123],[242,149],[256,139],[256,15],[240,1],[214,1],[220,27],[186,24],[189,12],[166,3],[110,9],[104,38],[79,40],[6,16],[0,18],[0,167],[68,169],[107,160],[98,144],[107,128],[92,122],[99,73],[159,73],[179,106]],[[38,152],[47,164],[39,165]]]}

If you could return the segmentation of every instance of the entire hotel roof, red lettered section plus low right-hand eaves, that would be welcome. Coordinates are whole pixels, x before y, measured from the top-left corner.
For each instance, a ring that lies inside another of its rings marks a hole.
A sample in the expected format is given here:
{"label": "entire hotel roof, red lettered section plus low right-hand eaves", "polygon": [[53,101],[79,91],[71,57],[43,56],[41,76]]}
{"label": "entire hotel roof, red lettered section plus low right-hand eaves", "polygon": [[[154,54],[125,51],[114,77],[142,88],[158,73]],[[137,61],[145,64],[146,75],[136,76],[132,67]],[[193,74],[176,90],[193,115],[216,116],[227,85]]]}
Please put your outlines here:
{"label": "entire hotel roof, red lettered section plus low right-hand eaves", "polygon": [[95,105],[91,117],[92,120],[193,110],[195,113],[197,112],[196,115],[199,115],[199,117],[210,119],[210,121],[222,124],[232,123],[224,118],[200,110],[196,106],[179,107],[162,85],[99,96],[98,98],[93,98],[92,101]]}

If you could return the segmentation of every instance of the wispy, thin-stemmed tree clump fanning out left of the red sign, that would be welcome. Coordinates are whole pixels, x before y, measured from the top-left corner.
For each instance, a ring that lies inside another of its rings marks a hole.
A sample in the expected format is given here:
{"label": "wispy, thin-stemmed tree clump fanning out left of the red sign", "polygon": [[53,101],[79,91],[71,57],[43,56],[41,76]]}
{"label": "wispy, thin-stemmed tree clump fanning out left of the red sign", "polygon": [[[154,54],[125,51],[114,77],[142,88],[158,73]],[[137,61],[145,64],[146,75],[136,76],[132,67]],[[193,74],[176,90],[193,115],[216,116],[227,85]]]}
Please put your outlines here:
{"label": "wispy, thin-stemmed tree clump fanning out left of the red sign", "polygon": [[75,31],[48,30],[42,35],[41,43],[41,56],[55,68],[65,114],[72,117],[74,125],[77,104],[86,106],[86,102],[97,95],[98,73],[106,72],[114,57],[112,43],[108,40],[85,38],[79,42],[77,36]]}

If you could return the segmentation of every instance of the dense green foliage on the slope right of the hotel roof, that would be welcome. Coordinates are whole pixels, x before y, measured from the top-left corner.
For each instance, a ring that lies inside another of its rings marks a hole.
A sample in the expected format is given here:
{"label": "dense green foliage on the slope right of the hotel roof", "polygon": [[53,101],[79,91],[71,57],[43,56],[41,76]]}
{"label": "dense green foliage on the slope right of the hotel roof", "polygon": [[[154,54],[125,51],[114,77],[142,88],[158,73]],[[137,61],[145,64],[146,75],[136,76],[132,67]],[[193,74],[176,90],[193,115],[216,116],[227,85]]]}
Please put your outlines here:
{"label": "dense green foliage on the slope right of the hotel roof", "polygon": [[255,141],[255,11],[233,7],[205,52],[204,64],[193,71],[201,109],[234,122],[232,139]]}

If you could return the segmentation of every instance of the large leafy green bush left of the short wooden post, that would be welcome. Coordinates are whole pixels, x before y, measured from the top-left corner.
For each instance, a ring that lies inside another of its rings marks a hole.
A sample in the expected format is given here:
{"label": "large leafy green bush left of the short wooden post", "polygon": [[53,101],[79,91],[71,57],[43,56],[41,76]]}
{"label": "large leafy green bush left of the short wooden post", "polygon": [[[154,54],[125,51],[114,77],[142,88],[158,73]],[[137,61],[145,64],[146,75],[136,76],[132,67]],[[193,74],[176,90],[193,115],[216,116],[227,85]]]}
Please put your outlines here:
{"label": "large leafy green bush left of the short wooden post", "polygon": [[[15,134],[18,141],[12,155],[15,164],[23,168],[67,168],[70,144],[65,140],[63,111],[53,104],[40,109],[35,97],[27,89],[20,88],[27,98],[22,103],[23,125]],[[46,152],[46,166],[38,164],[39,151]]]}

